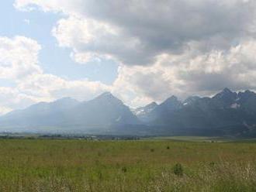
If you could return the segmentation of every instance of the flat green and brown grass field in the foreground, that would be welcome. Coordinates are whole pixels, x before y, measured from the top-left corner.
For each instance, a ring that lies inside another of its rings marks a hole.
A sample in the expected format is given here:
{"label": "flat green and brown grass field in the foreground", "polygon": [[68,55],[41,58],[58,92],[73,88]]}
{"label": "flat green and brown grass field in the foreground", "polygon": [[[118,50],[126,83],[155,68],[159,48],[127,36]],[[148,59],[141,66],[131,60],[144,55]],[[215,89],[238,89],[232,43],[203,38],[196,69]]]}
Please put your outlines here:
{"label": "flat green and brown grass field in the foreground", "polygon": [[256,143],[1,139],[0,191],[256,191]]}

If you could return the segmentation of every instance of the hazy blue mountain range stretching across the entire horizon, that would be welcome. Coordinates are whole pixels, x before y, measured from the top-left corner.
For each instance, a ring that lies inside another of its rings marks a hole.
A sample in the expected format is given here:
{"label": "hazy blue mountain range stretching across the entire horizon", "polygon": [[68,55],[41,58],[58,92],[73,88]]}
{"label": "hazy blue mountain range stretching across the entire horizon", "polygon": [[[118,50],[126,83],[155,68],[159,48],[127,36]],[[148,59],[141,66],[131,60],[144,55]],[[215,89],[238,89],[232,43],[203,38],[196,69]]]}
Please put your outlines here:
{"label": "hazy blue mountain range stretching across the entire horizon", "polygon": [[91,101],[62,98],[0,117],[2,132],[78,132],[112,135],[256,135],[256,94],[225,88],[213,97],[171,96],[130,109],[106,92]]}

